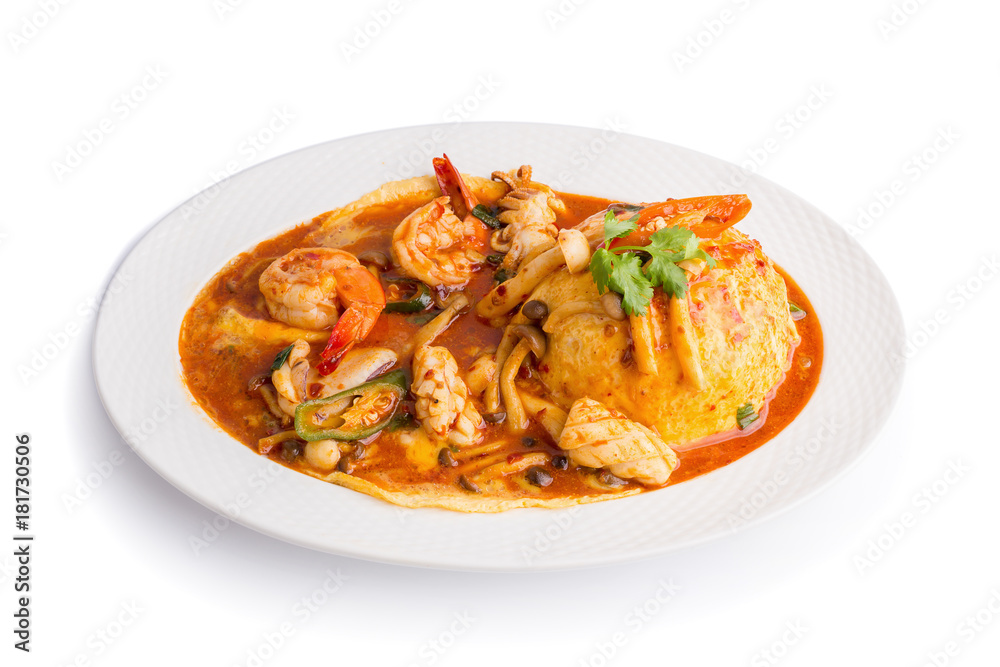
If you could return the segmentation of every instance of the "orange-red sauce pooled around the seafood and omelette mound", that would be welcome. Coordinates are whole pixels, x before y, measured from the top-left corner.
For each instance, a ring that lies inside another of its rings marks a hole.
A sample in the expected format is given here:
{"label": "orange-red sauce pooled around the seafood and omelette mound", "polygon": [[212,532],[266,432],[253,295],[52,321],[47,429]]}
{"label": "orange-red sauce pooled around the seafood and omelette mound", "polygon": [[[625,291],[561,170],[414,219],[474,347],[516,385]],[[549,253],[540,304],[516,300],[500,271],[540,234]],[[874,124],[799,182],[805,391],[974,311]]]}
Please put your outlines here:
{"label": "orange-red sauce pooled around the seafood and omelette mound", "polygon": [[[568,207],[568,212],[558,221],[561,227],[572,226],[592,213],[603,210],[610,203],[608,200],[581,195],[561,196]],[[492,202],[484,203],[489,205]],[[392,230],[416,205],[418,204],[377,207],[365,211],[358,216],[355,224],[372,226],[376,231],[343,249],[355,254],[365,250],[379,250],[388,255]],[[248,391],[248,386],[254,378],[269,373],[275,355],[287,343],[274,346],[260,344],[250,352],[242,348],[237,351],[233,346],[220,347],[213,344],[212,327],[215,315],[219,308],[230,306],[248,316],[267,319],[263,297],[258,289],[260,274],[272,259],[296,247],[312,245],[309,242],[310,234],[317,231],[321,223],[322,216],[264,241],[249,252],[237,256],[205,286],[185,316],[181,328],[179,352],[184,379],[192,396],[221,428],[254,451],[257,450],[260,438],[282,429],[275,424],[273,418],[268,418],[264,401],[258,393]],[[773,397],[767,406],[766,418],[762,415],[746,433],[735,431],[731,434],[732,437],[721,442],[678,452],[680,467],[670,476],[668,484],[676,484],[703,475],[746,456],[787,426],[812,395],[819,380],[823,361],[819,322],[812,313],[805,294],[789,276],[783,272],[781,274],[788,287],[789,300],[805,310],[808,316],[796,322],[802,342],[794,351],[791,368],[784,381],[773,392]],[[384,275],[394,277],[401,274],[398,270],[390,270]],[[479,298],[492,286],[493,271],[491,267],[486,266],[484,270],[474,275],[468,289],[475,298]],[[387,347],[398,351],[413,337],[426,319],[429,318],[383,313],[364,345]],[[434,344],[448,348],[455,357],[458,367],[465,369],[479,354],[495,349],[501,335],[501,330],[488,326],[475,316],[466,315],[456,320]],[[317,352],[321,347],[319,344],[314,344],[313,352]],[[400,355],[396,367],[408,371],[410,366],[411,356]],[[522,368],[523,375],[530,375],[530,369]],[[412,405],[408,409],[412,410]],[[502,424],[488,424],[486,428],[486,442],[503,437],[505,434]],[[561,454],[545,431],[534,423],[526,433],[507,437],[509,442],[503,449],[507,461],[515,461],[518,457],[532,452],[546,452],[553,457]],[[457,483],[457,473],[451,468],[438,466],[427,472],[417,471],[408,463],[403,447],[394,442],[391,434],[388,437],[380,436],[375,442],[379,445],[378,456],[360,458],[351,474],[379,485],[389,486],[418,482],[434,482],[442,485]],[[269,456],[274,461],[293,469],[302,469],[305,466],[301,457],[286,458],[288,453],[281,447],[276,447]],[[574,466],[570,466],[568,470],[549,469],[548,472],[552,474],[552,484],[539,489],[535,497],[595,493],[592,485],[581,481]],[[635,488],[647,490],[637,483],[625,482],[624,485],[608,489],[607,492],[615,493]]]}

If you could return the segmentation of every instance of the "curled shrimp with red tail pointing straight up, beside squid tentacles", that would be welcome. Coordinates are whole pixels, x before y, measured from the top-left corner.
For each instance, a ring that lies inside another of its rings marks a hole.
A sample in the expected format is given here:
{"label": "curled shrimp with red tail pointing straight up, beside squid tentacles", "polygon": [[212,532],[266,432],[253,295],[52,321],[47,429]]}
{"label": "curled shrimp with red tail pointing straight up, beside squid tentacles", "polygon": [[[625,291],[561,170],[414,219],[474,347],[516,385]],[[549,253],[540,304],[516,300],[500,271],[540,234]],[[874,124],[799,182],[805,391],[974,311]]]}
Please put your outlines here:
{"label": "curled shrimp with red tail pointing straight up, beside squid tentacles", "polygon": [[392,233],[392,254],[412,278],[460,287],[482,266],[486,227],[471,214],[478,203],[448,156],[434,159],[442,196],[421,206]]}

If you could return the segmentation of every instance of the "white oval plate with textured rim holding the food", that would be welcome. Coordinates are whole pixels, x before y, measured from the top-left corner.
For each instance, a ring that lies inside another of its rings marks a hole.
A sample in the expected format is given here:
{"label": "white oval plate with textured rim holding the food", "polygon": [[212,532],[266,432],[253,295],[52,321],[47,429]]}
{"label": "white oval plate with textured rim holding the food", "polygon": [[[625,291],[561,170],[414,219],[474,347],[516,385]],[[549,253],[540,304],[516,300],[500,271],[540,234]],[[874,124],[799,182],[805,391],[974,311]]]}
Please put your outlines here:
{"label": "white oval plate with textured rim holding the food", "polygon": [[[812,300],[825,335],[819,387],[778,437],[735,463],[637,497],[497,515],[408,510],[255,455],[218,429],[181,380],[181,320],[237,253],[387,180],[431,173],[446,151],[466,173],[531,164],[569,192],[654,201],[746,192],[740,229]],[[733,179],[741,185],[726,185]],[[781,187],[670,144],[609,131],[520,123],[388,130],[275,158],[157,223],[105,295],[94,370],[115,426],[178,489],[246,526],[370,560],[473,570],[590,566],[663,554],[774,516],[842,475],[869,449],[899,393],[899,306],[840,227]],[[850,415],[846,419],[845,415]],[[165,509],[164,511],[169,511]],[[599,539],[595,536],[600,536]]]}

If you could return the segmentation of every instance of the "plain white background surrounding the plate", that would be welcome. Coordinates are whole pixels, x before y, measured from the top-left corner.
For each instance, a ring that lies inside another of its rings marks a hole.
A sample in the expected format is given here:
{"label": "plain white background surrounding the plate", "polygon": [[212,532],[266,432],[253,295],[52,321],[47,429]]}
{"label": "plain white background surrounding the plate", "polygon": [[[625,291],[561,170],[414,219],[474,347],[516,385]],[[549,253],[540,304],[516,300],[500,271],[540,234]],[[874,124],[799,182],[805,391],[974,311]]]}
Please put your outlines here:
{"label": "plain white background surrounding the plate", "polygon": [[[6,2],[0,516],[29,432],[37,542],[28,655],[0,551],[0,662],[995,664],[998,20],[984,0]],[[132,453],[93,384],[113,267],[228,167],[457,120],[618,124],[853,228],[911,344],[873,453],[788,514],[627,566],[419,570],[238,525],[196,553],[215,515]]]}

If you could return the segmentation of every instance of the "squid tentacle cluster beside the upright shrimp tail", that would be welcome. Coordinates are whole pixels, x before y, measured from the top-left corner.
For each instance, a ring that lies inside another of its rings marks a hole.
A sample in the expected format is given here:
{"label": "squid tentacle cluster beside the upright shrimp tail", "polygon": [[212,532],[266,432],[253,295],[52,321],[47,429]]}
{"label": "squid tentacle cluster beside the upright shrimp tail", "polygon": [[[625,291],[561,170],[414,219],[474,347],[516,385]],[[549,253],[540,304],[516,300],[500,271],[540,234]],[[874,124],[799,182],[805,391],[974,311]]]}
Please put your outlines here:
{"label": "squid tentacle cluster beside the upright shrimp tail", "polygon": [[517,171],[494,171],[493,180],[503,181],[510,188],[497,204],[503,209],[498,219],[507,226],[493,232],[490,247],[506,253],[503,268],[516,270],[525,261],[555,245],[559,229],[556,213],[566,205],[547,185],[531,181],[531,166],[522,165]]}

